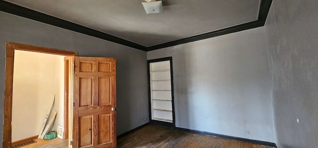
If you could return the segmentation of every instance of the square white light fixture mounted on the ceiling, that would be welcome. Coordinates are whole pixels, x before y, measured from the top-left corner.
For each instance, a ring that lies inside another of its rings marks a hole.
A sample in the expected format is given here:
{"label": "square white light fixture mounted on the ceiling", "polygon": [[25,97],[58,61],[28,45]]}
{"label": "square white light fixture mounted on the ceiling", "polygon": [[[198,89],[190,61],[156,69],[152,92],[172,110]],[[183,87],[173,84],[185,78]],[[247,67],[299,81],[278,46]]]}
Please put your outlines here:
{"label": "square white light fixture mounted on the ceiling", "polygon": [[145,0],[142,2],[147,14],[151,13],[163,13],[161,0]]}

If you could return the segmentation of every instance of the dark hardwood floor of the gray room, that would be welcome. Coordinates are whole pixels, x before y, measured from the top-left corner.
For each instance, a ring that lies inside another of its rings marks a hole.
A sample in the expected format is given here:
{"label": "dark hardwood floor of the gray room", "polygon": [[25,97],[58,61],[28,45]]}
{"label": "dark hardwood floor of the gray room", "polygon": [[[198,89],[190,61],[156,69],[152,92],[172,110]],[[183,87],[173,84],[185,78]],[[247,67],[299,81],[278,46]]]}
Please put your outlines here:
{"label": "dark hardwood floor of the gray room", "polygon": [[148,125],[117,140],[117,148],[272,148]]}

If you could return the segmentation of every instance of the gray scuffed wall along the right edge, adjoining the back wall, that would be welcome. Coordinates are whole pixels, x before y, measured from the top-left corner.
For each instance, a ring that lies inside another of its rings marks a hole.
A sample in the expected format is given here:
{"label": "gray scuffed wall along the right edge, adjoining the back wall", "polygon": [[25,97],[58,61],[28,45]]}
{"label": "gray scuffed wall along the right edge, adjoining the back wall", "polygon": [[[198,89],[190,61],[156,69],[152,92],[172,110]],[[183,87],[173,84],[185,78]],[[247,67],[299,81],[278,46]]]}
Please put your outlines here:
{"label": "gray scuffed wall along the right edge, adjoining the back wall", "polygon": [[317,8],[317,0],[273,0],[265,24],[280,148],[318,148]]}

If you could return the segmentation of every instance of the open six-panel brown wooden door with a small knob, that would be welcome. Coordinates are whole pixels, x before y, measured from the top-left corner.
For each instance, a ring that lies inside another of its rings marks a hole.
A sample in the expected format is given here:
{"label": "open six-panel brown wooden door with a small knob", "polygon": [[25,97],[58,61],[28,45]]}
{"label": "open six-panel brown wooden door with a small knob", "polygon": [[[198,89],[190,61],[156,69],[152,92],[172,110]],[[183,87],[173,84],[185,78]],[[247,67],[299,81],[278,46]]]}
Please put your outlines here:
{"label": "open six-panel brown wooden door with a small knob", "polygon": [[74,58],[73,148],[116,147],[115,58]]}

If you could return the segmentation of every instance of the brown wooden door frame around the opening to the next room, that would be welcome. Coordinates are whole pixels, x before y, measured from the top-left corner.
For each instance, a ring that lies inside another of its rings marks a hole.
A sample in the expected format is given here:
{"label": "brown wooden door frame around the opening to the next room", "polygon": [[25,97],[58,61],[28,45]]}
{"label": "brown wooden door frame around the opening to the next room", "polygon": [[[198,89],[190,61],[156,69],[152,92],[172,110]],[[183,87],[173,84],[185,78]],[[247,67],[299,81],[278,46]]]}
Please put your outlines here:
{"label": "brown wooden door frame around the opening to the next room", "polygon": [[[4,90],[4,124],[3,124],[3,148],[11,148],[11,120],[12,120],[12,90],[13,90],[13,64],[14,64],[14,51],[21,50],[21,51],[30,51],[30,52],[37,52],[37,53],[46,53],[46,54],[52,54],[52,55],[62,55],[67,56],[68,58],[64,59],[64,64],[68,65],[67,69],[70,70],[70,65],[72,65],[72,58],[74,56],[77,56],[77,52],[70,52],[70,51],[63,51],[63,50],[57,50],[57,49],[50,49],[50,48],[43,48],[43,47],[36,47],[36,46],[30,46],[30,45],[22,45],[22,44],[16,44],[16,43],[7,43],[6,44],[6,67],[5,67],[5,90]],[[71,71],[69,71],[71,72]],[[67,79],[67,82],[69,84],[73,84],[72,78],[68,78],[70,76],[73,76],[69,73],[69,75],[65,76],[64,78]],[[72,92],[72,87],[69,85],[66,86],[67,83],[64,84],[65,88],[65,95],[64,95],[64,106],[63,110],[66,112],[64,114],[64,127],[66,127],[66,130],[64,132],[64,137],[67,138],[69,135],[69,132],[72,132],[72,130],[67,130],[69,125],[72,125],[72,123],[69,123],[69,119],[72,119],[72,114],[68,112],[70,107],[70,100],[72,97],[72,94],[68,92]],[[68,87],[68,88],[67,88]],[[68,99],[67,99],[68,98]],[[71,109],[70,109],[71,110]],[[71,117],[70,117],[71,116]],[[72,121],[71,121],[72,122]],[[66,125],[67,124],[67,125]],[[72,128],[70,128],[72,129]],[[70,141],[70,140],[69,140]]]}

